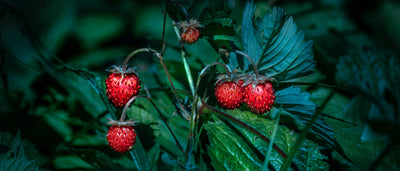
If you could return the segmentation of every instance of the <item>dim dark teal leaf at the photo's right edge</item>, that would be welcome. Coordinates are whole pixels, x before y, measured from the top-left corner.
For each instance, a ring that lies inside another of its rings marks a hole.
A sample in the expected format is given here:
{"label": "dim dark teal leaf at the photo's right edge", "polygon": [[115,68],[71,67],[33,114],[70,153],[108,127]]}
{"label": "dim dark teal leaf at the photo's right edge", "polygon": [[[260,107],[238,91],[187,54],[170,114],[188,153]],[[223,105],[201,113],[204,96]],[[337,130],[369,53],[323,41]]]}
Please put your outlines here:
{"label": "dim dark teal leaf at the photo's right edge", "polygon": [[[364,119],[378,119],[399,124],[400,64],[392,55],[361,52],[343,56],[337,66],[336,80],[376,105],[370,112],[350,115]],[[362,98],[358,98],[361,100]],[[397,118],[397,119],[396,119]]]}

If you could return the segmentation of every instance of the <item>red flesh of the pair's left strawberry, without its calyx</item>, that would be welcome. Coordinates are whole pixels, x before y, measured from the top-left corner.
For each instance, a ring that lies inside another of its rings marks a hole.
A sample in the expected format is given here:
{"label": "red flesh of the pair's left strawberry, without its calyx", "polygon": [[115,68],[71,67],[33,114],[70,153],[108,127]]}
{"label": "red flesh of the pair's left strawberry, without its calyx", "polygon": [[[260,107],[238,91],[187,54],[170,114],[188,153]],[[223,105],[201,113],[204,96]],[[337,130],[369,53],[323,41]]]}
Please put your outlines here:
{"label": "red flesh of the pair's left strawberry, without its calyx", "polygon": [[[238,108],[243,103],[243,88],[236,82],[219,81],[215,87],[215,97],[220,106],[226,109]],[[243,81],[241,81],[243,83]]]}

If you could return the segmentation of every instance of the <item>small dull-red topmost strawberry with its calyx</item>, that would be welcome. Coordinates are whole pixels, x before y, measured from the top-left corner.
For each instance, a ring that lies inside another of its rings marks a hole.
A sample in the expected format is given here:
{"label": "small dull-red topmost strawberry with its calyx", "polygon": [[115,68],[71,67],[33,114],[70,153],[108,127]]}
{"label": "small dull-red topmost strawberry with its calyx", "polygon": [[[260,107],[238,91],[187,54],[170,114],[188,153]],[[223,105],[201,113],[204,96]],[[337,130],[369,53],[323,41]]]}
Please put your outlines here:
{"label": "small dull-red topmost strawberry with its calyx", "polygon": [[198,20],[181,21],[177,23],[181,39],[187,44],[193,44],[200,38],[199,27],[203,27]]}

